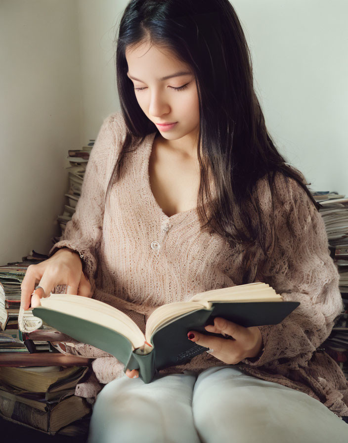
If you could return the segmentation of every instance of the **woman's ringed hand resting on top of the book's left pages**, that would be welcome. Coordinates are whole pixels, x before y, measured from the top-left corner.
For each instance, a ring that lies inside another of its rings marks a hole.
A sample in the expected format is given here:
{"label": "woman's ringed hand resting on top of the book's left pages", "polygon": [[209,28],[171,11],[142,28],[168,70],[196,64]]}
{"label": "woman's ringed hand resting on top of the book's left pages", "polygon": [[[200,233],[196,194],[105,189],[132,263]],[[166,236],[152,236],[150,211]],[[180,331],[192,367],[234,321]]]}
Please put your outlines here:
{"label": "woman's ringed hand resting on top of the book's left pages", "polygon": [[[33,294],[36,286],[41,286]],[[48,297],[57,285],[68,285],[67,294],[91,297],[91,286],[82,270],[80,255],[69,248],[61,248],[44,262],[30,265],[21,284],[21,308],[40,306],[40,299]]]}

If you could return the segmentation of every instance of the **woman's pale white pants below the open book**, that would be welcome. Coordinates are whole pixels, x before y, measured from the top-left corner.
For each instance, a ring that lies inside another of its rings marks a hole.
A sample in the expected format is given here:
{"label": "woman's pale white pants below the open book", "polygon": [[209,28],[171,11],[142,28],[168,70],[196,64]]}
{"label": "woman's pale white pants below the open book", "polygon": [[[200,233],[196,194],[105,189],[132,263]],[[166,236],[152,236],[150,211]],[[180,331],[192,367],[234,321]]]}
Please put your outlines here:
{"label": "woman's pale white pants below the open book", "polygon": [[108,383],[88,443],[347,443],[348,424],[307,394],[233,365]]}

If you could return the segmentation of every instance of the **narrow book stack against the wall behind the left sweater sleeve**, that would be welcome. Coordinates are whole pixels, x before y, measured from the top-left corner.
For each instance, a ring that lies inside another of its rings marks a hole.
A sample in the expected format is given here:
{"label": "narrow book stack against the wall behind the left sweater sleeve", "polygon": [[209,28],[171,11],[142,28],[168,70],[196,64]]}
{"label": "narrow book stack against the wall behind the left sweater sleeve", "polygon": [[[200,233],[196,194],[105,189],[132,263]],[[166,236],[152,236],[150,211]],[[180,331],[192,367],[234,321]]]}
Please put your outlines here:
{"label": "narrow book stack against the wall behind the left sweater sleeve", "polygon": [[[57,221],[61,229],[61,235],[64,233],[66,223],[71,220],[76,210],[77,202],[81,196],[81,187],[84,181],[87,162],[89,160],[89,154],[94,145],[94,141],[90,139],[87,146],[83,146],[82,149],[69,149],[67,159],[70,166],[66,168],[69,179],[68,192],[64,194],[67,198],[67,202],[64,205],[64,212],[62,215],[57,216]],[[59,237],[53,237],[52,243],[55,244],[59,241]]]}

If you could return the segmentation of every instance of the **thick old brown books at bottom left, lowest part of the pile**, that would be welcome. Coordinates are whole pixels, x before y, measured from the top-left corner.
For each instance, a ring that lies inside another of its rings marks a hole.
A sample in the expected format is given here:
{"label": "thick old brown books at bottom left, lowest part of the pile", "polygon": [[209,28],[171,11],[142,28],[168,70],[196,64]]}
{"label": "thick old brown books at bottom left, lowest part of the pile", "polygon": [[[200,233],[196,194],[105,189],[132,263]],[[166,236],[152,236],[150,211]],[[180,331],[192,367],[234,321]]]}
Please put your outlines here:
{"label": "thick old brown books at bottom left, lowest part of the pile", "polygon": [[63,354],[1,354],[0,417],[50,435],[86,417],[90,405],[74,394],[88,361]]}

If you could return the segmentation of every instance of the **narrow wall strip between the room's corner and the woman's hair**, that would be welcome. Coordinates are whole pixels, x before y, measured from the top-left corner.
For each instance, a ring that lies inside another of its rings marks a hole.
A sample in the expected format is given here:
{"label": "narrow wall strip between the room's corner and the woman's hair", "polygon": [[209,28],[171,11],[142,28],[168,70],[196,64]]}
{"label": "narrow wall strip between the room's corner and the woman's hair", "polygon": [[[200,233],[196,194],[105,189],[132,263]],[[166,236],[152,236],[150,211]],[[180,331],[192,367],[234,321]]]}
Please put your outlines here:
{"label": "narrow wall strip between the room's corner and the woman's hair", "polygon": [[113,41],[127,3],[126,0],[78,0],[82,144],[95,138],[103,119],[120,109]]}

